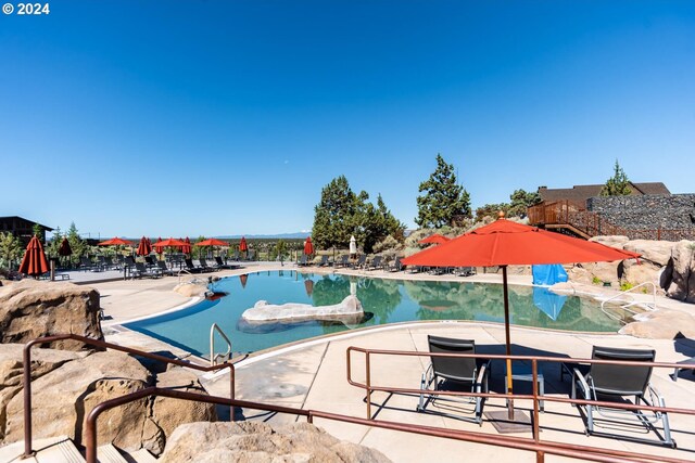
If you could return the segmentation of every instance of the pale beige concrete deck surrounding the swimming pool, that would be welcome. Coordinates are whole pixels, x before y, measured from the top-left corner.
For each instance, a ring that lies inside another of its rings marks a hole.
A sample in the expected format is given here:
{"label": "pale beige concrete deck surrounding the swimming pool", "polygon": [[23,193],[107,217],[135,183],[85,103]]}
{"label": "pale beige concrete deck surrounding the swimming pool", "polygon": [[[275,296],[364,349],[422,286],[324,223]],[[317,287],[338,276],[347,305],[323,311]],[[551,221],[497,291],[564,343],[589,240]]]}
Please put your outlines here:
{"label": "pale beige concrete deck surrounding the swimming pool", "polygon": [[[242,269],[223,270],[215,276],[237,275],[260,270],[294,270],[293,265],[280,267],[278,263],[248,263]],[[320,273],[332,272],[332,269],[303,268],[302,271]],[[342,271],[341,273],[367,274],[370,276],[417,279],[417,280],[454,280],[501,283],[498,274],[479,274],[468,278],[430,275],[426,273],[386,273],[380,271]],[[205,274],[204,278],[210,275]],[[116,276],[117,278],[117,276]],[[190,278],[190,276],[188,276]],[[78,275],[73,282],[78,282]],[[108,282],[86,282],[101,294],[101,306],[109,317],[103,322],[106,340],[128,345],[147,350],[170,350],[180,357],[189,355],[180,349],[167,346],[156,339],[121,326],[128,320],[175,310],[194,304],[197,299],[184,297],[172,290],[178,284],[174,276],[157,280],[127,280]],[[509,275],[510,284],[530,284],[529,275]],[[601,288],[603,294],[616,293]],[[645,299],[646,300],[646,299]],[[659,297],[660,307],[683,310],[693,313],[694,307],[672,299]],[[427,351],[427,335],[434,334],[459,338],[475,339],[482,353],[504,353],[504,326],[495,323],[480,322],[415,322],[388,325],[372,329],[355,330],[349,333],[324,336],[305,343],[280,347],[269,351],[257,352],[237,363],[237,398],[266,403],[291,406],[303,409],[321,410],[366,417],[367,409],[364,390],[351,386],[346,380],[346,349],[350,346],[362,348],[387,348],[397,350]],[[232,339],[233,342],[233,339]],[[678,362],[695,356],[695,340],[679,339],[642,339],[619,334],[582,334],[567,333],[529,327],[511,327],[513,353],[553,357],[589,358],[593,345],[655,348],[657,360]],[[195,359],[194,359],[195,360]],[[421,372],[428,363],[427,357],[376,356],[371,359],[372,385],[418,388]],[[504,390],[504,364],[493,362],[491,390]],[[570,382],[560,382],[559,364],[542,365],[545,394],[549,397],[569,397]],[[668,407],[693,408],[695,395],[695,375],[682,371],[678,381],[670,377],[672,370],[656,369],[653,384],[667,398]],[[361,355],[353,356],[352,374],[354,380],[364,382],[365,362]],[[201,377],[211,394],[228,396],[229,377],[227,373]],[[529,383],[515,382],[515,391],[530,394]],[[438,426],[446,429],[465,429],[496,436],[497,432],[485,419],[479,427],[477,424],[422,414],[415,411],[418,398],[408,395],[387,395],[377,393],[371,398],[372,417],[397,423],[412,423],[426,426]],[[517,409],[529,410],[528,401],[515,401]],[[490,399],[484,411],[505,410],[503,399]],[[273,415],[253,410],[243,410],[242,414],[250,420],[264,420],[270,423],[293,422],[293,415]],[[542,440],[559,441],[601,448],[611,448],[659,454],[683,460],[695,460],[695,416],[672,414],[670,416],[673,438],[678,450],[661,446],[632,442],[622,438],[586,437],[578,410],[567,403],[545,402],[545,412],[540,414]],[[476,461],[521,462],[535,461],[532,452],[505,449],[479,443],[469,443],[444,438],[405,435],[401,432],[365,427],[341,422],[316,420],[315,424],[324,427],[340,439],[350,440],[374,447],[395,462],[452,461],[452,455],[475,455]],[[655,439],[656,435],[621,430],[621,436]],[[531,433],[514,434],[518,437],[531,437]],[[425,455],[424,452],[427,452]],[[456,459],[458,460],[458,459]],[[560,458],[547,455],[547,461],[560,461]]]}

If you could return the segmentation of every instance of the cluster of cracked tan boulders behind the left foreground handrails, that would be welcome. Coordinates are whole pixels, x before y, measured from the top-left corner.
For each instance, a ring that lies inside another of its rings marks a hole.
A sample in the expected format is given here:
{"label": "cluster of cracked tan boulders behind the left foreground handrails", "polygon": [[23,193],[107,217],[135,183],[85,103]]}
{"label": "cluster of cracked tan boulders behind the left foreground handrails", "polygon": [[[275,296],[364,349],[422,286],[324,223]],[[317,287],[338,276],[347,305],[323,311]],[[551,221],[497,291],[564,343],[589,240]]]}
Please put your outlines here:
{"label": "cluster of cracked tan boulders behind the left foreground handrails", "polygon": [[[23,394],[18,385],[21,346],[0,345],[0,445],[23,438]],[[100,402],[156,384],[205,394],[193,373],[173,369],[155,375],[134,357],[118,351],[68,352],[35,349],[33,424],[37,438],[66,435],[81,443],[84,420]],[[33,362],[34,363],[34,362]],[[11,396],[11,397],[10,397]],[[99,417],[100,443],[125,450],[164,449],[167,436],[181,423],[214,421],[214,406],[168,398],[148,398],[117,407]]]}

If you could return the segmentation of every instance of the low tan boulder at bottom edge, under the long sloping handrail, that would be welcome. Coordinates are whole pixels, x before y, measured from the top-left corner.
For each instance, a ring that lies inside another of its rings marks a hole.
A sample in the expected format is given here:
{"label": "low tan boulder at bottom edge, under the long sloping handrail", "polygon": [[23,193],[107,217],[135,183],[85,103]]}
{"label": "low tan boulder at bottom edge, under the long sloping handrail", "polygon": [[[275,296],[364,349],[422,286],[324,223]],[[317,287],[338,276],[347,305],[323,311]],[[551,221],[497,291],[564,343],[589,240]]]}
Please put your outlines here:
{"label": "low tan boulder at bottom edge, under the long sloping handrail", "polygon": [[179,426],[166,445],[162,463],[321,462],[381,463],[378,450],[338,440],[308,423],[273,428],[265,423],[192,423]]}

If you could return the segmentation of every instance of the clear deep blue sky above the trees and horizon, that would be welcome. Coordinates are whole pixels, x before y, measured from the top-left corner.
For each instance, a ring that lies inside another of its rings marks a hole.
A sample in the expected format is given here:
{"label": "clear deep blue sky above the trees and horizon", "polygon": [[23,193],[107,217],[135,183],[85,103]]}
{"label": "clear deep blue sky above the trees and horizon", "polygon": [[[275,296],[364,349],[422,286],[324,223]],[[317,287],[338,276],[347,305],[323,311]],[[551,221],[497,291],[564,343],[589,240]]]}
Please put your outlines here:
{"label": "clear deep blue sky above the trees and horizon", "polygon": [[0,215],[91,236],[306,230],[340,175],[414,227],[437,153],[473,207],[695,191],[695,1],[50,1],[0,52]]}

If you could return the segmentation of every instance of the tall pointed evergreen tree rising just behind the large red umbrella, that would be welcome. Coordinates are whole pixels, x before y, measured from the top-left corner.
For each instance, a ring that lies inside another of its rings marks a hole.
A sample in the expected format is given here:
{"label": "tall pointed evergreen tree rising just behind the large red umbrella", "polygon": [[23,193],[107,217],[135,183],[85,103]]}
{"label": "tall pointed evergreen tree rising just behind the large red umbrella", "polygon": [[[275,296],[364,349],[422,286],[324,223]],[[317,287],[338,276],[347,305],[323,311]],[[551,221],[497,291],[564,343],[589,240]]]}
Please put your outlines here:
{"label": "tall pointed evergreen tree rising just behind the large red umbrella", "polygon": [[437,155],[437,169],[418,189],[415,223],[424,228],[439,228],[471,217],[470,195],[456,183],[454,166]]}

